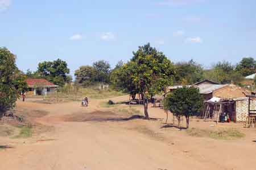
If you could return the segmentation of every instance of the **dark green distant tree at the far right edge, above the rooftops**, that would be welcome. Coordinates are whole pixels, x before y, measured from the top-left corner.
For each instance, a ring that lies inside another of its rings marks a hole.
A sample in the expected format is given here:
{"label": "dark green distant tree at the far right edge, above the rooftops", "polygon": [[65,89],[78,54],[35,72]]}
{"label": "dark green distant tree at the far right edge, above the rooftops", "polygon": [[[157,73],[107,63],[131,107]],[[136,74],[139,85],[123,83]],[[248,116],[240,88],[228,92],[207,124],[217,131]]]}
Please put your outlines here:
{"label": "dark green distant tree at the far right edge, above the rooftops", "polygon": [[252,57],[244,57],[239,64],[237,64],[236,71],[242,76],[249,76],[255,73],[256,61]]}

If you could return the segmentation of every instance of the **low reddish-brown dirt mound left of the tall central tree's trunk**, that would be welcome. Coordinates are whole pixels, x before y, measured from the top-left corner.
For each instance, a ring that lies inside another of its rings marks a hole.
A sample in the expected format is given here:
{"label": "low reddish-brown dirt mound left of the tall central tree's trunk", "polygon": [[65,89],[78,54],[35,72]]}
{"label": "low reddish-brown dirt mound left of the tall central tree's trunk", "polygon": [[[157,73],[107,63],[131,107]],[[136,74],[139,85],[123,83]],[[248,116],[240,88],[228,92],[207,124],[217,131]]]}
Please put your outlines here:
{"label": "low reddish-brown dirt mound left of the tall central tree's trunk", "polygon": [[141,115],[115,114],[112,111],[93,111],[92,113],[75,113],[65,115],[65,122],[105,122],[105,121],[130,121],[132,119],[143,119]]}

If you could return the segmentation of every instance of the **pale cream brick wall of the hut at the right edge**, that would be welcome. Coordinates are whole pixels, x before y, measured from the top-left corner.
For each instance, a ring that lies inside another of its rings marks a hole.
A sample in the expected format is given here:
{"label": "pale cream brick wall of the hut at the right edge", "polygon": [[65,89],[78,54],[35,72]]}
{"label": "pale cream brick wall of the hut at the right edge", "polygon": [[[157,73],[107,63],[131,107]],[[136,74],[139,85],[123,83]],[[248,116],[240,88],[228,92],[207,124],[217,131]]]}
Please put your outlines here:
{"label": "pale cream brick wall of the hut at the right edge", "polygon": [[[236,101],[236,121],[245,122],[248,115],[249,99]],[[250,110],[256,110],[256,100],[252,100],[250,104]]]}

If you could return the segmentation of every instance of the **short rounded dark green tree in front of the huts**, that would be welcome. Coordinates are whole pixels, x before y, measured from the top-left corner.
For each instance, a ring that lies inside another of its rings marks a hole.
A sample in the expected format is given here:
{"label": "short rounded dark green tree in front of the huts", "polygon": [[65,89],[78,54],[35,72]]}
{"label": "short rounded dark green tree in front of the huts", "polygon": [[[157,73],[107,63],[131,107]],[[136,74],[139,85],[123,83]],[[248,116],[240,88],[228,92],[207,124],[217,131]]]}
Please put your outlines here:
{"label": "short rounded dark green tree in front of the huts", "polygon": [[200,95],[199,89],[179,88],[167,95],[164,108],[168,109],[176,115],[180,126],[180,118],[185,117],[187,128],[189,128],[189,117],[197,115],[203,108],[203,97]]}

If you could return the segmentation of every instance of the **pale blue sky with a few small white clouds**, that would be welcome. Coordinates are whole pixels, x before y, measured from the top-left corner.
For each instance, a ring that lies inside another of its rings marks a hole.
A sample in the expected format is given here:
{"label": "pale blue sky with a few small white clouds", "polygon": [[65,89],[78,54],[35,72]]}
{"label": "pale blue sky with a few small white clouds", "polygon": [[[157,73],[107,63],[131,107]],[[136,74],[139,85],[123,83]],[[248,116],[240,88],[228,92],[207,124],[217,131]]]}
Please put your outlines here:
{"label": "pale blue sky with a few small white clouds", "polygon": [[18,1],[0,0],[0,46],[23,71],[40,61],[114,67],[150,42],[174,62],[209,67],[256,57],[255,0]]}

